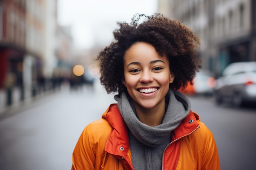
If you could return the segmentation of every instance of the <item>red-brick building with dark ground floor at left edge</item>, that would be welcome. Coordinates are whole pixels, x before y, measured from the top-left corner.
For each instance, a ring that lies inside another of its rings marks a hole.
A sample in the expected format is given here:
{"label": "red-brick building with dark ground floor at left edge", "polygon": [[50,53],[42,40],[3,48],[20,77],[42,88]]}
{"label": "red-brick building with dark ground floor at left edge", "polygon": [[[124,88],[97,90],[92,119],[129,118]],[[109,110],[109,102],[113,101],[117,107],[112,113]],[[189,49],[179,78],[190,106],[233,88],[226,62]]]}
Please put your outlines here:
{"label": "red-brick building with dark ground floor at left edge", "polygon": [[22,84],[25,53],[25,0],[0,0],[0,88]]}

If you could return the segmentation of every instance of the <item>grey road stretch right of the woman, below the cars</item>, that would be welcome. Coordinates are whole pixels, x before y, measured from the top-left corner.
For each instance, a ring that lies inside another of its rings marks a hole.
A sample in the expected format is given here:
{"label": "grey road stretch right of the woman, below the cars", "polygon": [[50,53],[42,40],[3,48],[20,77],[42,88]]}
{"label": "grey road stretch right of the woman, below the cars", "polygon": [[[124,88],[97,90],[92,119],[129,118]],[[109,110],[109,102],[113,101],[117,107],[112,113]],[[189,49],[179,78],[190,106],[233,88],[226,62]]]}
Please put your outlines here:
{"label": "grey road stretch right of the woman, below the cars", "polygon": [[204,97],[190,101],[215,137],[221,170],[256,170],[256,108],[216,106]]}

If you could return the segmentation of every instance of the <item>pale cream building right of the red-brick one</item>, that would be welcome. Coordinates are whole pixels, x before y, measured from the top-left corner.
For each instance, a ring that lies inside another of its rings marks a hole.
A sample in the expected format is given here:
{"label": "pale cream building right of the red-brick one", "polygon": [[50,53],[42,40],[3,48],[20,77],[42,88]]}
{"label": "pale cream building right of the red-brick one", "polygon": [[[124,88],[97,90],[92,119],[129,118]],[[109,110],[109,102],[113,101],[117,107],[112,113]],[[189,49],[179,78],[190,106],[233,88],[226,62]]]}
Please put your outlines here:
{"label": "pale cream building right of the red-brick one", "polygon": [[47,81],[51,79],[57,63],[55,56],[56,9],[56,0],[26,0],[27,53],[23,64],[26,97],[36,95],[35,93],[41,89],[49,88]]}

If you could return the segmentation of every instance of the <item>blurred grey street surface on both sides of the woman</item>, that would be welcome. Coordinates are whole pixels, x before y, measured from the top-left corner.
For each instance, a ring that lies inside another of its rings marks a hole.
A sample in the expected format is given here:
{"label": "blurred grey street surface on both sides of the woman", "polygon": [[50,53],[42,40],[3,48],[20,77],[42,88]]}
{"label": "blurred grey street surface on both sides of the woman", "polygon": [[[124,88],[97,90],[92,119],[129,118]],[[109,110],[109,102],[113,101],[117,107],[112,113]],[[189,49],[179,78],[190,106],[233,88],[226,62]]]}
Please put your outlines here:
{"label": "blurred grey street surface on both sides of the woman", "polygon": [[[222,170],[256,169],[256,109],[216,106],[211,97],[189,97],[192,110],[213,132]],[[70,170],[83,128],[115,102],[99,82],[40,96],[0,115],[0,170]]]}

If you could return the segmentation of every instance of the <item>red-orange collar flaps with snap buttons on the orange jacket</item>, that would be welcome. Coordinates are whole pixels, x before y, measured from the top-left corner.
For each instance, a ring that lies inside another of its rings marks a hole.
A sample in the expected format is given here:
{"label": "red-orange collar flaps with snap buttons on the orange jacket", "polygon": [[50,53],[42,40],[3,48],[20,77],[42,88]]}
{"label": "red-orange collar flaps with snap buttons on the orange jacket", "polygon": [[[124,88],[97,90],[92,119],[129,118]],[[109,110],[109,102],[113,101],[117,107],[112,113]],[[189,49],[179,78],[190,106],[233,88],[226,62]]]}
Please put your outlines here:
{"label": "red-orange collar flaps with snap buttons on the orange jacket", "polygon": [[[106,112],[102,115],[113,130],[110,132],[106,142],[105,151],[116,155],[119,159],[128,159],[129,135],[128,128],[121,117],[117,104],[111,104]],[[180,125],[172,132],[171,142],[176,141],[186,135],[191,134],[200,126],[200,117],[198,114],[190,111],[189,115],[183,119]]]}

